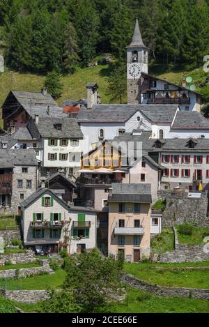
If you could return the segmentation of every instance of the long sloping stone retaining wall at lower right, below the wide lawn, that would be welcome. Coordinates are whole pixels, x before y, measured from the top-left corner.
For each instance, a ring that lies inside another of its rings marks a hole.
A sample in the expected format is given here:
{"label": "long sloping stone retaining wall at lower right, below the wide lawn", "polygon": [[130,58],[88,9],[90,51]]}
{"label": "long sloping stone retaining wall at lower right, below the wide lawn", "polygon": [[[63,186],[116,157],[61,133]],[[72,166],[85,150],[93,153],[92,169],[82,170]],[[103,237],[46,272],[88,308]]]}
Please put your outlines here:
{"label": "long sloping stone retaining wall at lower right, below the wide lawn", "polygon": [[122,277],[123,282],[126,282],[131,287],[137,287],[143,291],[148,291],[156,296],[180,296],[183,298],[202,298],[209,300],[209,289],[193,289],[190,287],[166,287],[150,284],[139,280],[130,274],[124,274]]}

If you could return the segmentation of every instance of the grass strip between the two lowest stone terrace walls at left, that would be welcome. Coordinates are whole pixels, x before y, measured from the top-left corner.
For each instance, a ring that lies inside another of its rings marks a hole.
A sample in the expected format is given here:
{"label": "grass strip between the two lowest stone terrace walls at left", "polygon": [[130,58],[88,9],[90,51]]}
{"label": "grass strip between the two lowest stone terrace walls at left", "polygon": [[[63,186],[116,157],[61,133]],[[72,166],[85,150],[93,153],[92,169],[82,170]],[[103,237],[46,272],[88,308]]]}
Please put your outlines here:
{"label": "grass strip between the two lowest stone terrace walls at left", "polygon": [[0,280],[0,287],[6,289],[59,289],[63,284],[65,271],[58,269],[53,274],[26,277],[20,280]]}

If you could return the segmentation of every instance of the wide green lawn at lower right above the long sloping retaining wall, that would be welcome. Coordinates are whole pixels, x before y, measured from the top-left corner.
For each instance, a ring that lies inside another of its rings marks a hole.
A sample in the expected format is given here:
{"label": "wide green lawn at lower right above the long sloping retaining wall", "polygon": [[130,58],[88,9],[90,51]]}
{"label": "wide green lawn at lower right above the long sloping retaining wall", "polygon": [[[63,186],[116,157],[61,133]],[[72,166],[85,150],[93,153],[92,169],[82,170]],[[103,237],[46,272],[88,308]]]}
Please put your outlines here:
{"label": "wide green lawn at lower right above the long sloping retaining wall", "polygon": [[[207,264],[206,264],[207,263]],[[199,271],[178,271],[174,268],[172,270],[160,270],[155,267],[163,267],[162,264],[125,264],[124,270],[126,273],[150,282],[152,284],[170,286],[170,287],[197,287],[201,289],[209,289],[209,265],[206,261],[203,266],[208,266],[208,270]],[[179,265],[176,265],[179,266]],[[186,266],[186,265],[185,265]],[[188,264],[187,266],[192,266]],[[197,266],[197,265],[196,265]],[[171,267],[167,265],[167,267]],[[175,266],[173,266],[175,267]]]}

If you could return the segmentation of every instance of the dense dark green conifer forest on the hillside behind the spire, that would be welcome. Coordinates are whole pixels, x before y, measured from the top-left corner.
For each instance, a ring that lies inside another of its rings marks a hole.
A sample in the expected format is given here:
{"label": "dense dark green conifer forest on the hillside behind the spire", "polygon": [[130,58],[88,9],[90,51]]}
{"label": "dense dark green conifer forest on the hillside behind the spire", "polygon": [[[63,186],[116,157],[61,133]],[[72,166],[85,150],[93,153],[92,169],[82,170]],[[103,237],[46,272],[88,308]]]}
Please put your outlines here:
{"label": "dense dark green conifer forest on the hillside behind the spire", "polygon": [[121,59],[139,18],[151,63],[202,66],[209,54],[208,0],[1,0],[8,67],[72,73],[109,52]]}

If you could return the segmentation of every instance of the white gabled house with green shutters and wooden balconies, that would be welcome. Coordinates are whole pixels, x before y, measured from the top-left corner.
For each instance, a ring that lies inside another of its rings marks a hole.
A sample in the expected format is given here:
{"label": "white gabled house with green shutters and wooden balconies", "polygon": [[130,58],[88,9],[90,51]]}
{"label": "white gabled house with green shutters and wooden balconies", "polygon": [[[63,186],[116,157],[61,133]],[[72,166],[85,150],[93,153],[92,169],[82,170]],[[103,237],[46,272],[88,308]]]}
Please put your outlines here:
{"label": "white gabled house with green shutters and wooden balconies", "polygon": [[93,208],[68,206],[47,188],[34,192],[21,207],[24,246],[45,254],[62,248],[79,254],[95,248],[97,213]]}

